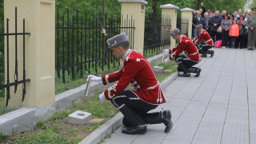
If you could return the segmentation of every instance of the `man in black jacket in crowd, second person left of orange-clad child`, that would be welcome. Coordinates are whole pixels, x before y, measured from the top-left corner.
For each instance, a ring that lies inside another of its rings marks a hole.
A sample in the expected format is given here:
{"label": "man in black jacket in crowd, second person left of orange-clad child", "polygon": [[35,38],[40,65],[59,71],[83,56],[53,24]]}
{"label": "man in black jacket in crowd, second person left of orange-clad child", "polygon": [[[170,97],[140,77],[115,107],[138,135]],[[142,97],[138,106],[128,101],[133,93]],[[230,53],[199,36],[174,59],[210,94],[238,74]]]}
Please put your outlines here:
{"label": "man in black jacket in crowd, second person left of orange-clad child", "polygon": [[210,37],[213,38],[214,43],[220,39],[222,39],[222,35],[221,33],[218,33],[218,27],[221,25],[222,23],[222,17],[219,16],[219,10],[215,11],[215,15],[213,18],[210,18]]}

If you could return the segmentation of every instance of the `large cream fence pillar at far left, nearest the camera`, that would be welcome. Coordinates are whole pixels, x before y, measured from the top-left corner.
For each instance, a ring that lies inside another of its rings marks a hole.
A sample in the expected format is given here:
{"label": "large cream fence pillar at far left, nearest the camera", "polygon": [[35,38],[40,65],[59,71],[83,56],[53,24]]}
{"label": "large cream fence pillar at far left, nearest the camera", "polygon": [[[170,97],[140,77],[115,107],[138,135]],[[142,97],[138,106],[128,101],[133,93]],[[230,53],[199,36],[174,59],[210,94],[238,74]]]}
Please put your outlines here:
{"label": "large cream fence pillar at far left, nearest the camera", "polygon": [[[26,20],[26,95],[22,102],[22,85],[18,85],[14,94],[14,86],[10,87],[8,110],[19,107],[42,107],[54,102],[55,83],[55,0],[4,0],[4,18],[10,19],[9,32],[15,31],[15,7],[18,9],[17,30],[22,33],[22,21]],[[5,26],[6,32],[6,26]],[[22,79],[22,36],[18,36],[18,80]],[[15,40],[10,37],[10,81],[14,80]],[[5,39],[6,49],[6,39]],[[6,58],[6,53],[5,53]],[[6,60],[5,60],[6,62]],[[6,63],[5,63],[6,66]],[[6,72],[5,72],[6,74]]]}

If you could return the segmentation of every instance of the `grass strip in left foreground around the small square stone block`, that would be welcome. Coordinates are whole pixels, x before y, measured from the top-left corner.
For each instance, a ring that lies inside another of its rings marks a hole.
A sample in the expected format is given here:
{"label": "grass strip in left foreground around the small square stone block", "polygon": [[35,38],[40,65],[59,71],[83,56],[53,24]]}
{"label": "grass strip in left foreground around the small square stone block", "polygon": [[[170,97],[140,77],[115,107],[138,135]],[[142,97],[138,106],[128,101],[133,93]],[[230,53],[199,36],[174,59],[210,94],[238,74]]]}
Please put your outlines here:
{"label": "grass strip in left foreground around the small square stone block", "polygon": [[94,118],[114,117],[118,110],[110,102],[101,103],[98,94],[85,101],[74,103],[70,110],[54,113],[46,122],[37,122],[34,130],[0,136],[0,143],[78,143],[101,125],[74,125],[66,122],[66,116],[76,110],[90,112]]}

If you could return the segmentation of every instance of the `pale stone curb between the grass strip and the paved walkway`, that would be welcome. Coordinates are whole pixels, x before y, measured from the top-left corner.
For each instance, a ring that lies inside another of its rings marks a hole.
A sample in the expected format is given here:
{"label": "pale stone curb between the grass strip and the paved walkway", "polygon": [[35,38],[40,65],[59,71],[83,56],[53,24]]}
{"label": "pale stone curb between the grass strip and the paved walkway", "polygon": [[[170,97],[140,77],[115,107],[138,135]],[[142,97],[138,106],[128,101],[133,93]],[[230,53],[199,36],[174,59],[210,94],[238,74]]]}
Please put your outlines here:
{"label": "pale stone curb between the grass strip and the paved walkway", "polygon": [[[178,77],[177,72],[175,72],[174,74],[170,74],[169,77],[167,77],[164,81],[160,83],[161,88],[165,89],[177,77]],[[118,127],[122,126],[122,118],[123,118],[123,115],[121,113],[118,113],[116,116],[114,116],[114,118],[111,118],[109,121],[105,122],[98,129],[94,130],[94,132],[89,134],[86,138],[83,138],[82,141],[79,142],[79,144],[97,144],[102,142],[106,134],[110,135],[115,130],[117,130]]]}

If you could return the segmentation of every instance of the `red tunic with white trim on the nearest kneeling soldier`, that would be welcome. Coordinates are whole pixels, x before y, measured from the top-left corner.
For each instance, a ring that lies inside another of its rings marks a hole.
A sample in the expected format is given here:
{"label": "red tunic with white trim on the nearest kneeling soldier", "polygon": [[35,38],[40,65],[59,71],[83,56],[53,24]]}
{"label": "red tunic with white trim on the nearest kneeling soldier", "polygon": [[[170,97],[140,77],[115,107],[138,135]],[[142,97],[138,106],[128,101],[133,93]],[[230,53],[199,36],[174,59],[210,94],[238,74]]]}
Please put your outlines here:
{"label": "red tunic with white trim on the nearest kneeling soldier", "polygon": [[104,85],[118,81],[114,86],[104,91],[107,100],[120,94],[130,83],[134,86],[132,92],[143,101],[151,104],[162,104],[166,102],[150,63],[142,54],[134,50],[127,50],[123,61],[124,66],[121,70],[102,76]]}

